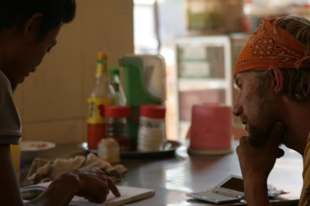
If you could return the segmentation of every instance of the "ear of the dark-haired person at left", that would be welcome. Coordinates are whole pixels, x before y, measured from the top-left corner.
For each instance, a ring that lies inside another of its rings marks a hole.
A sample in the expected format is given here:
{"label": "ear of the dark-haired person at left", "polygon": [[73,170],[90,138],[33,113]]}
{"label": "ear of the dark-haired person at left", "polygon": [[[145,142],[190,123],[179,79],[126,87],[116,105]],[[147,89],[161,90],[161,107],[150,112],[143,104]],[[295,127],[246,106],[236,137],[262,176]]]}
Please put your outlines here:
{"label": "ear of the dark-haired person at left", "polygon": [[28,19],[24,24],[24,38],[26,38],[29,41],[33,41],[37,38],[38,32],[40,29],[40,23],[42,20],[42,13],[35,13],[31,16],[30,19]]}

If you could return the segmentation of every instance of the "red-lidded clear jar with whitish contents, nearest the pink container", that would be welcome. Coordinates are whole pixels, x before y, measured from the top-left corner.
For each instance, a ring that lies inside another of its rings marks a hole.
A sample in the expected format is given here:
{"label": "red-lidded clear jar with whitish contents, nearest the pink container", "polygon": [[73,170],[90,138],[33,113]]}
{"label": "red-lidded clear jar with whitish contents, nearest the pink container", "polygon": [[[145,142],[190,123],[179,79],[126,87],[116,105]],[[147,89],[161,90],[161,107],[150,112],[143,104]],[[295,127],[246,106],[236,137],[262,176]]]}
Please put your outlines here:
{"label": "red-lidded clear jar with whitish contents, nearest the pink container", "polygon": [[166,109],[161,105],[141,104],[138,132],[139,151],[161,151],[166,140]]}

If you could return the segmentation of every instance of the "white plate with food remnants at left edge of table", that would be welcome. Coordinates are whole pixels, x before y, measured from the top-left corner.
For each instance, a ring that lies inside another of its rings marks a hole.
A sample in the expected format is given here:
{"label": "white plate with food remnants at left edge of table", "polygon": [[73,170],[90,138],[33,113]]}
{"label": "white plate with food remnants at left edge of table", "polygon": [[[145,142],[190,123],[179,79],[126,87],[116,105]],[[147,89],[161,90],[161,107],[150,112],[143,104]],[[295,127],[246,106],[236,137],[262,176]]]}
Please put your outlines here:
{"label": "white plate with food remnants at left edge of table", "polygon": [[21,141],[21,156],[24,161],[32,161],[49,149],[56,147],[55,143],[45,141]]}

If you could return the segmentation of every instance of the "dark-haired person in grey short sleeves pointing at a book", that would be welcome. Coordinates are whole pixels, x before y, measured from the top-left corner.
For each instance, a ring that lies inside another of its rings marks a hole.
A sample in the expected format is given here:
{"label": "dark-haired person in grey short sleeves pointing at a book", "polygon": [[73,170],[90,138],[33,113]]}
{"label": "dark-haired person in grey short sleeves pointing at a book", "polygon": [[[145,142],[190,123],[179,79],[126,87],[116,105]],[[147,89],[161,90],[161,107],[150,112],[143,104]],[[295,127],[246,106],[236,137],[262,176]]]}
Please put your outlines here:
{"label": "dark-haired person in grey short sleeves pointing at a book", "polygon": [[[75,0],[0,0],[0,205],[23,205],[10,153],[10,144],[18,144],[22,135],[13,90],[56,45],[75,11]],[[78,169],[57,178],[26,205],[66,206],[74,195],[101,203],[109,190],[120,195],[101,170]]]}

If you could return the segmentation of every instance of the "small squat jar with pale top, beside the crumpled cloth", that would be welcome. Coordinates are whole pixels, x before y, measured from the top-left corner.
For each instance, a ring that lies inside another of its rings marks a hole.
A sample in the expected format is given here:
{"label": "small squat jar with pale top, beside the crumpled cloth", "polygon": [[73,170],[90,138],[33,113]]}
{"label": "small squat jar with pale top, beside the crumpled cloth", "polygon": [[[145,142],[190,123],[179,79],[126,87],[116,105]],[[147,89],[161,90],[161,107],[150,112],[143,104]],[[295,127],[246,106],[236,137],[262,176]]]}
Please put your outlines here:
{"label": "small squat jar with pale top, beside the crumpled cloth", "polygon": [[110,163],[120,162],[120,146],[113,138],[104,138],[98,144],[98,157]]}

